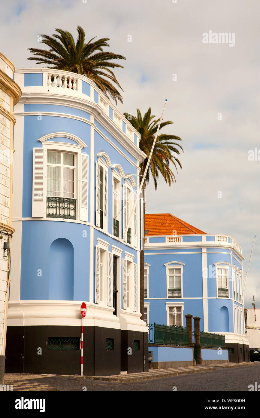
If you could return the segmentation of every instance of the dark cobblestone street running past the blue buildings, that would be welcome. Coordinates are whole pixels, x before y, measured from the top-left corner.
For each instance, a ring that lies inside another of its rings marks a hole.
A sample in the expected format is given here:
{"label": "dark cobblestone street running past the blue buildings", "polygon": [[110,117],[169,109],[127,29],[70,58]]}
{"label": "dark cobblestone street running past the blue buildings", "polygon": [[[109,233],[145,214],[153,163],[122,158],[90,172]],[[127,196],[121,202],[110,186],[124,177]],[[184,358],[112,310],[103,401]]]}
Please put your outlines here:
{"label": "dark cobblestone street running past the blue buildings", "polygon": [[162,377],[142,382],[118,383],[89,380],[75,376],[6,374],[5,384],[13,391],[248,391],[260,383],[260,365],[218,368],[212,372]]}

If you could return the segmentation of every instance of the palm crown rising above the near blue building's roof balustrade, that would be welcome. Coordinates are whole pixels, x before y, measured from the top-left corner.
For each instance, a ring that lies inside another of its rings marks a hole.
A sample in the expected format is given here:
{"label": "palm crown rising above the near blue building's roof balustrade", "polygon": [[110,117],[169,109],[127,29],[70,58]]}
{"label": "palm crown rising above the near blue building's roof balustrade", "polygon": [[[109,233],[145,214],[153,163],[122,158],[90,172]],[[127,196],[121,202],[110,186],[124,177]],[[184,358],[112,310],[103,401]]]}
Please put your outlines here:
{"label": "palm crown rising above the near blue building's roof balustrade", "polygon": [[[95,36],[88,43],[85,43],[85,32],[81,26],[78,26],[78,39],[75,44],[70,32],[61,29],[55,30],[59,35],[55,33],[52,36],[41,35],[41,42],[48,45],[50,49],[47,51],[39,48],[28,48],[34,55],[28,59],[38,61],[36,64],[47,64],[46,68],[86,74],[107,97],[110,95],[115,102],[119,99],[123,103],[121,94],[111,83],[113,82],[121,88],[111,68],[124,67],[111,62],[111,60],[126,58],[113,52],[103,51],[104,46],[109,46],[107,43],[109,38],[93,41],[96,38]],[[123,91],[122,88],[121,90]]]}

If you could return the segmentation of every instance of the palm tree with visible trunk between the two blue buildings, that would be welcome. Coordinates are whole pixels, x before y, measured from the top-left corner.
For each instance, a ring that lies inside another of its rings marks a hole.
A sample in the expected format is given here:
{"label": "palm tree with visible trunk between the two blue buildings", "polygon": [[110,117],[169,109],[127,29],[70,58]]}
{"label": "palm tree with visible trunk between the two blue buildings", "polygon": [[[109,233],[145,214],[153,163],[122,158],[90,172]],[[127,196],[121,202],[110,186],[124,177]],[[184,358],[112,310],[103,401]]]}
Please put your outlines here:
{"label": "palm tree with visible trunk between the two blue buildings", "polygon": [[[131,124],[135,127],[135,129],[141,134],[141,140],[139,142],[139,147],[144,153],[146,153],[147,157],[144,161],[140,164],[140,183],[142,177],[144,175],[145,168],[148,163],[148,158],[150,155],[151,147],[154,142],[154,137],[158,128],[158,122],[160,120],[156,119],[154,115],[151,115],[151,107],[147,110],[142,117],[141,112],[139,109],[137,110],[137,116],[134,117],[129,113],[124,113],[124,116],[131,122]],[[162,122],[160,125],[159,130],[161,130],[164,126],[171,125],[173,122],[167,120]],[[179,155],[179,150],[176,147],[179,147],[182,151],[182,146],[175,143],[174,141],[181,141],[179,136],[170,135],[166,133],[158,134],[157,141],[154,146],[153,154],[151,157],[151,161],[149,164],[148,171],[146,173],[146,177],[144,179],[144,184],[142,187],[143,196],[145,196],[145,189],[146,183],[149,182],[150,175],[154,178],[154,186],[155,190],[157,190],[157,178],[159,177],[159,173],[163,176],[164,180],[166,181],[169,186],[174,183],[175,176],[172,169],[169,165],[172,163],[177,171],[177,165],[182,168],[180,161],[177,158]],[[177,163],[177,165],[176,165]],[[177,171],[178,172],[178,171]],[[144,200],[144,223],[145,223],[145,200]],[[145,227],[144,227],[145,231]],[[144,237],[144,233],[143,233]],[[140,311],[141,311],[141,319],[144,318],[144,250],[141,251],[140,254]]]}

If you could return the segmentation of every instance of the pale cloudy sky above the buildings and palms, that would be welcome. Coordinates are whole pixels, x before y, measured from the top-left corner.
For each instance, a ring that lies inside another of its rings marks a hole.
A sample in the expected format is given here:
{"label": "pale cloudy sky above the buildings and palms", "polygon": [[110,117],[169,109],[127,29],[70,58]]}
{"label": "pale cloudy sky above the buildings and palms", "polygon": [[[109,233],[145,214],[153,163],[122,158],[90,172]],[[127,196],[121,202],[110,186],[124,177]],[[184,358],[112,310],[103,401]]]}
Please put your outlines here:
{"label": "pale cloudy sky above the buildings and palms", "polygon": [[[110,38],[110,51],[126,56],[115,71],[124,89],[121,112],[143,114],[150,106],[160,117],[168,99],[164,120],[174,125],[164,132],[182,138],[182,170],[170,188],[160,178],[155,191],[150,181],[146,213],[172,213],[204,232],[231,235],[242,246],[244,272],[256,235],[245,308],[253,295],[260,308],[259,1],[0,3],[0,51],[16,68],[36,66],[27,48],[40,47],[39,34],[61,28],[76,37],[81,25],[87,41]],[[219,33],[230,41],[220,43]]]}

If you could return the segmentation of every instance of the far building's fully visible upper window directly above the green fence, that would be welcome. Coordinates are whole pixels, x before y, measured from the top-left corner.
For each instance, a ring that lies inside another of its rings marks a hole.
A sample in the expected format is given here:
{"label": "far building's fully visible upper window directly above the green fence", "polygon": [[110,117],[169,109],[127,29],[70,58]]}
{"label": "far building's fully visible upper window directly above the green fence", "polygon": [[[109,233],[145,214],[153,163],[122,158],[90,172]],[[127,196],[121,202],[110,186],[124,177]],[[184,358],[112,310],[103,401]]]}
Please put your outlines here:
{"label": "far building's fully visible upper window directly above the green fence", "polygon": [[164,264],[167,278],[167,298],[183,298],[182,275],[183,263],[172,261]]}

